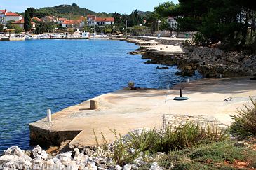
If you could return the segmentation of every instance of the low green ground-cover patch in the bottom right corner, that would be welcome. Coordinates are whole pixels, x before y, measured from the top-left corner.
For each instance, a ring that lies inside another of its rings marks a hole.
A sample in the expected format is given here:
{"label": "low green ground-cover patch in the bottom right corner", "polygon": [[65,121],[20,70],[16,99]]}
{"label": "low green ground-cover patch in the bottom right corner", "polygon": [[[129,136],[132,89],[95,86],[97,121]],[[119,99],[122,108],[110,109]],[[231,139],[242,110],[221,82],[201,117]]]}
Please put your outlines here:
{"label": "low green ground-cover patch in the bottom right corner", "polygon": [[245,147],[234,146],[234,141],[223,141],[207,146],[186,148],[170,152],[161,157],[159,165],[168,169],[173,162],[173,169],[238,169],[234,161],[250,162],[247,168],[256,164],[256,152]]}

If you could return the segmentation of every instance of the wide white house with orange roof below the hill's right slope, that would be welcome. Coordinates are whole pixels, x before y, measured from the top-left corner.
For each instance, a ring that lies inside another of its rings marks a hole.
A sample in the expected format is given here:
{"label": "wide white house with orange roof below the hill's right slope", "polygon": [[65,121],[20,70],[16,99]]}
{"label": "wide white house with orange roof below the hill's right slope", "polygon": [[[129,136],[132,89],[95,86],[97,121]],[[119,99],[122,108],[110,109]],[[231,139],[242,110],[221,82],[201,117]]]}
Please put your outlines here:
{"label": "wide white house with orange roof below the hill's right slope", "polygon": [[87,15],[87,24],[89,26],[114,24],[114,17],[97,17],[96,15]]}

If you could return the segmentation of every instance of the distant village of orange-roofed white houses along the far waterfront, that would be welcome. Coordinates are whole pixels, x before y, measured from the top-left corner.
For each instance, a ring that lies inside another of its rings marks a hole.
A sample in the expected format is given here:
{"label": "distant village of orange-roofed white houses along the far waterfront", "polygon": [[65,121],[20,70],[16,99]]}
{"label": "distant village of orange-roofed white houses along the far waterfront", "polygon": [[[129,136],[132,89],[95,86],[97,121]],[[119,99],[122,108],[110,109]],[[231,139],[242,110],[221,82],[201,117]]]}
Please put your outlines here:
{"label": "distant village of orange-roofed white houses along the far waterfront", "polygon": [[[144,20],[145,24],[147,20]],[[160,24],[159,20],[159,24]],[[175,17],[166,17],[166,22],[171,27],[176,27]],[[145,31],[142,24],[139,25],[137,31],[132,33],[128,31],[127,21],[121,31],[117,31],[114,17],[97,17],[97,15],[79,16],[76,19],[65,17],[55,17],[53,15],[45,15],[41,18],[30,18],[30,29],[25,31],[25,18],[8,10],[0,10],[0,24],[3,25],[2,33],[0,31],[0,41],[22,41],[25,39],[87,39],[87,38],[102,38],[109,36],[166,36],[176,38],[177,33],[174,31],[155,31],[154,33]],[[45,24],[54,26],[48,32],[36,31],[40,29],[39,25]],[[95,29],[98,27],[100,29]],[[140,28],[141,27],[141,28]],[[158,26],[159,27],[159,26]],[[85,30],[86,29],[86,30]],[[40,32],[40,34],[39,34]],[[193,35],[186,34],[186,38],[191,38]],[[181,37],[181,36],[180,36]]]}

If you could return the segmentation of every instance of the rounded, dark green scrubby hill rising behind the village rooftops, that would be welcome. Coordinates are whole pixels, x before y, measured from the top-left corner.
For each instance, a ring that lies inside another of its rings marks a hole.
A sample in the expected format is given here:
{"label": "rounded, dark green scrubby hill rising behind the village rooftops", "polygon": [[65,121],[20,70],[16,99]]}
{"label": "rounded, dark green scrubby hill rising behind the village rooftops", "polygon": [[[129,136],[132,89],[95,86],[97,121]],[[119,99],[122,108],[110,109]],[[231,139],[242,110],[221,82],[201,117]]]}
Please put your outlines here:
{"label": "rounded, dark green scrubby hill rising behind the village rooftops", "polygon": [[[22,13],[23,15],[24,13]],[[60,5],[54,7],[45,7],[40,9],[35,9],[34,16],[43,17],[45,15],[54,15],[56,17],[66,17],[74,19],[81,15],[86,16],[88,14],[97,15],[97,17],[109,17],[107,13],[96,13],[87,8],[81,8],[73,3],[72,5]]]}

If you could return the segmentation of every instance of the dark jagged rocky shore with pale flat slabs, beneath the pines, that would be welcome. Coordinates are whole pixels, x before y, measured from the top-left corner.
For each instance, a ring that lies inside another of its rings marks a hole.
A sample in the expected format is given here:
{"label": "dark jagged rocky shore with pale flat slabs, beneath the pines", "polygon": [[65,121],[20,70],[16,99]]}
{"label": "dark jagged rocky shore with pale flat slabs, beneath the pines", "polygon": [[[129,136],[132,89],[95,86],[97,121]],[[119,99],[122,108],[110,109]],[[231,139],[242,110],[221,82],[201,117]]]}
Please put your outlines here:
{"label": "dark jagged rocky shore with pale flat slabs, beneath the pines", "polygon": [[[182,48],[182,51],[177,52],[168,49],[172,48],[169,44],[173,39],[159,41],[128,38],[126,41],[140,45],[139,49],[130,52],[131,55],[141,54],[142,59],[149,59],[144,62],[145,64],[176,65],[181,70],[176,74],[180,76],[193,76],[195,71],[201,73],[204,78],[256,76],[256,55],[198,47],[190,45],[189,41],[180,41],[172,45]],[[162,48],[156,49],[160,45]]]}

